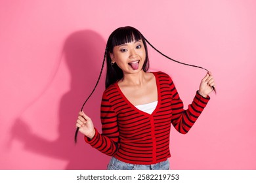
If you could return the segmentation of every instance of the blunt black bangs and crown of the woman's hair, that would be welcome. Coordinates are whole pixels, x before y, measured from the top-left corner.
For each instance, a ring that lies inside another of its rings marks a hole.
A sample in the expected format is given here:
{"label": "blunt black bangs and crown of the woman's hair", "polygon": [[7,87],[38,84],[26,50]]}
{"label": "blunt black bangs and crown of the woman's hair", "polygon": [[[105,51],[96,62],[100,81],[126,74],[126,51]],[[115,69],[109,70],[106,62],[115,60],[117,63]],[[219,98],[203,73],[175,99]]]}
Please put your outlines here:
{"label": "blunt black bangs and crown of the woman's hair", "polygon": [[[112,35],[110,35],[109,39],[111,42],[108,42],[110,48],[114,48],[114,46],[119,46],[121,44],[125,44],[127,42],[139,41],[142,39],[141,33],[135,29],[134,27],[119,27],[116,29]],[[110,52],[113,49],[109,50]]]}

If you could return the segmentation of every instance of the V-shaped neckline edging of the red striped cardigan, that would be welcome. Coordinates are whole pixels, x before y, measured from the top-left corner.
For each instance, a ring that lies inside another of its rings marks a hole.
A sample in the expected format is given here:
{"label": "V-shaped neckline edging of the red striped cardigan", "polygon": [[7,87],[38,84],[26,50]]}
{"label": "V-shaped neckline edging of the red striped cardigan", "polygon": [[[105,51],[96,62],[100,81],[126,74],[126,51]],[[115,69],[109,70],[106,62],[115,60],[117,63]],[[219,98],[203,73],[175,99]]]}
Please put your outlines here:
{"label": "V-shaped neckline edging of the red striped cardigan", "polygon": [[123,94],[123,92],[121,91],[121,88],[119,88],[117,82],[115,83],[115,86],[117,88],[117,91],[119,92],[119,94],[121,95],[121,97],[124,99],[124,101],[127,103],[127,105],[129,105],[129,107],[133,108],[134,110],[140,112],[140,114],[143,114],[144,116],[154,116],[154,114],[156,113],[156,111],[158,111],[158,108],[160,107],[160,101],[161,101],[161,95],[160,95],[160,84],[159,84],[159,78],[156,72],[150,72],[155,76],[155,80],[156,80],[156,88],[158,90],[158,105],[156,105],[156,108],[154,109],[154,111],[151,114],[148,114],[142,110],[139,110],[139,108],[135,107],[135,105],[133,105],[128,99],[127,97],[125,97],[125,95]]}

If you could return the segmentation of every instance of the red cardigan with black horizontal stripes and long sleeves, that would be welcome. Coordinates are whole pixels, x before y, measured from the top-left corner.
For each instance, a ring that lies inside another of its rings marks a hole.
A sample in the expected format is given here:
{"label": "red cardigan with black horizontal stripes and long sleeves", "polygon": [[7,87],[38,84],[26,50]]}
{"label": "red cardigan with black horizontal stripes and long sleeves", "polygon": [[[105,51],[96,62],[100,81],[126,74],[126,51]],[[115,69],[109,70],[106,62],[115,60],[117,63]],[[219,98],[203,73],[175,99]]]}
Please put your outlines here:
{"label": "red cardigan with black horizontal stripes and long sleeves", "polygon": [[117,82],[102,96],[100,118],[102,134],[85,141],[100,152],[126,163],[154,164],[171,157],[169,134],[171,124],[180,133],[187,133],[209,101],[198,92],[187,110],[170,76],[153,73],[158,88],[158,105],[152,114],[132,105],[121,92]]}

